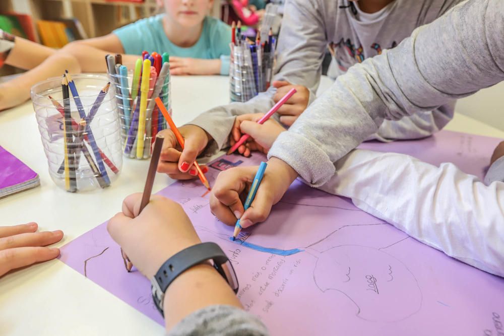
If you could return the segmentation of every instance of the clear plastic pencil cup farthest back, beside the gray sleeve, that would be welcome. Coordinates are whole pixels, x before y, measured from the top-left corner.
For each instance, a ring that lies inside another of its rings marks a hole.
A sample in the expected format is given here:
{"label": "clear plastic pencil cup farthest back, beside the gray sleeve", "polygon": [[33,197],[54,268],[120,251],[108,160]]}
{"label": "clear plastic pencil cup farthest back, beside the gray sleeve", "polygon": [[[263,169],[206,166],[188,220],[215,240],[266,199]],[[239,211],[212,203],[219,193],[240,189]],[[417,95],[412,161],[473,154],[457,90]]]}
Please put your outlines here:
{"label": "clear plastic pencil cup farthest back, beside the gray sleeve", "polygon": [[229,98],[231,102],[246,102],[268,89],[273,60],[270,53],[254,57],[246,47],[233,46],[229,62]]}

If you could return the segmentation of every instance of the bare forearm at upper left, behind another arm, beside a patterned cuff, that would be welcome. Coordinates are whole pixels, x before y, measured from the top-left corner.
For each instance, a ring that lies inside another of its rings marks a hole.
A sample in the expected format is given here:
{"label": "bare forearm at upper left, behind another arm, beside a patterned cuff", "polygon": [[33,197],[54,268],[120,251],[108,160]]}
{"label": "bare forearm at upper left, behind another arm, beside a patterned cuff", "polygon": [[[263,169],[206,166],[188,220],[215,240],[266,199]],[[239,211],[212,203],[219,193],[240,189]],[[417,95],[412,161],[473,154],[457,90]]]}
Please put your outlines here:
{"label": "bare forearm at upper left, behind another arm, beside a patterned cuff", "polygon": [[16,37],[14,48],[11,49],[6,63],[16,68],[30,70],[56,52],[55,49]]}

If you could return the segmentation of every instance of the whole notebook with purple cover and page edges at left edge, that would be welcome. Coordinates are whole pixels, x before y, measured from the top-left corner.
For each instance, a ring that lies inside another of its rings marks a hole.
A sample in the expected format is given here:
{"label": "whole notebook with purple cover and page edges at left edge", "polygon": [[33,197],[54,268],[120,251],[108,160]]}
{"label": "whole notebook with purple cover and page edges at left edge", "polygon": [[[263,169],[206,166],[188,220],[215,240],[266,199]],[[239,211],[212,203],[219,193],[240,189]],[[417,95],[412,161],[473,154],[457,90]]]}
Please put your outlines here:
{"label": "whole notebook with purple cover and page edges at left edge", "polygon": [[0,198],[39,185],[38,174],[0,146]]}

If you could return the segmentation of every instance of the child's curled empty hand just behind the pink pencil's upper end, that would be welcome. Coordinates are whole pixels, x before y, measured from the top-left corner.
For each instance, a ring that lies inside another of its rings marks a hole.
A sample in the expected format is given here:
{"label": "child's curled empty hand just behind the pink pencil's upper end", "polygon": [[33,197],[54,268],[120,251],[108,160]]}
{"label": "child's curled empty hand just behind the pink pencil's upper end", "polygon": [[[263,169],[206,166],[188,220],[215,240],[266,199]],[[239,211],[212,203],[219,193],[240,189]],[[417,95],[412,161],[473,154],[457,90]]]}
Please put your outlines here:
{"label": "child's curled empty hand just behind the pink pencil's upper end", "polygon": [[282,115],[280,122],[290,126],[308,106],[310,92],[302,85],[293,85],[286,81],[274,81],[271,85],[278,89],[275,96],[273,96],[275,103],[278,103],[290,89],[295,88],[297,91],[278,109],[278,113]]}

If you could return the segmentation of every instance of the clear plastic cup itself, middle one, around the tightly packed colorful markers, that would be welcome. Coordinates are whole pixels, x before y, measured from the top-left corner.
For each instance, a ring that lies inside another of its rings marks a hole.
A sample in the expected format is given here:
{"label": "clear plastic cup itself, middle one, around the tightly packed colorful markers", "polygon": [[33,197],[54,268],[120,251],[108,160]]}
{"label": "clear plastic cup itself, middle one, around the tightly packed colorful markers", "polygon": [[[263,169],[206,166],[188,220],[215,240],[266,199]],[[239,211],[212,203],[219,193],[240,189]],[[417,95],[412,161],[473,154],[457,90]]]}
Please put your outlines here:
{"label": "clear plastic cup itself, middle one, around the tightly packed colorful markers", "polygon": [[133,71],[128,77],[109,75],[109,78],[114,87],[112,104],[119,114],[122,153],[129,158],[148,159],[152,154],[153,139],[167,127],[156,105],[157,97],[171,116],[170,76],[168,74],[162,83],[158,83],[157,78],[150,78],[149,89],[145,92],[141,90],[141,80],[133,83]]}

